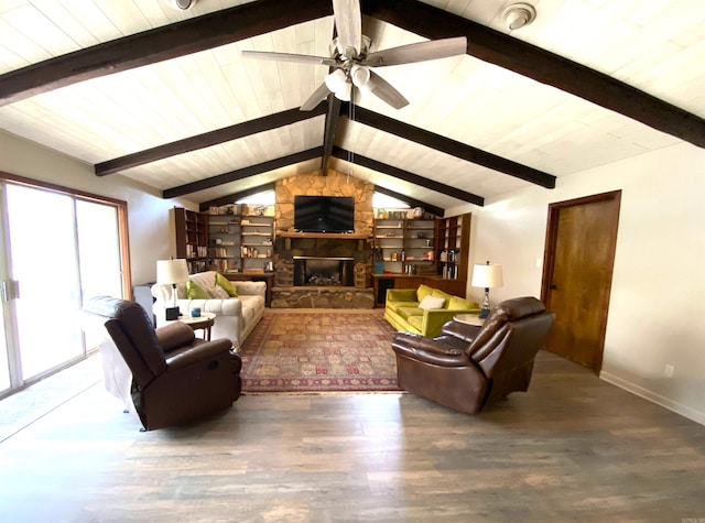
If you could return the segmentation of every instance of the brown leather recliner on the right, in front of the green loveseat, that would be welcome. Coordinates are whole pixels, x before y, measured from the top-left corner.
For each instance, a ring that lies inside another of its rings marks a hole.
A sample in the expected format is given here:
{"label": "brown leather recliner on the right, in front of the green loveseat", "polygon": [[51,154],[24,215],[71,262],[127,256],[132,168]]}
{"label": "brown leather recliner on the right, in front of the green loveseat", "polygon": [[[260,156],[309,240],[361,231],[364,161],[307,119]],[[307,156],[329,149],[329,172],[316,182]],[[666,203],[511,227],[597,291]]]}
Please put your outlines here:
{"label": "brown leather recliner on the right, in front of the green loveseat", "polygon": [[482,327],[452,320],[436,338],[398,333],[399,386],[467,414],[525,392],[554,317],[539,299],[519,297],[499,304]]}

